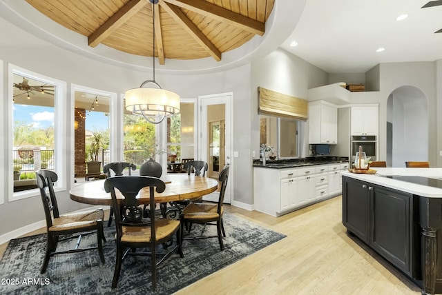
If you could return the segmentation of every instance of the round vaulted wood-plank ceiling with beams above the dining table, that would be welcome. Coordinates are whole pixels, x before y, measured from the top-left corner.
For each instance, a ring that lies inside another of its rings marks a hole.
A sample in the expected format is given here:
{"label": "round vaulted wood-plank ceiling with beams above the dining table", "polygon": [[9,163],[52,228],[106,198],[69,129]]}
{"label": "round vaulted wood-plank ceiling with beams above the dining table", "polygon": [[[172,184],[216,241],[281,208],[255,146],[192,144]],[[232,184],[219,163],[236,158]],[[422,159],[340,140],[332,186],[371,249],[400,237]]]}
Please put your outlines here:
{"label": "round vaulted wood-plank ceiling with beams above the dining table", "polygon": [[[61,26],[122,52],[152,57],[222,59],[265,34],[274,0],[26,0]],[[155,10],[153,10],[155,6]]]}

